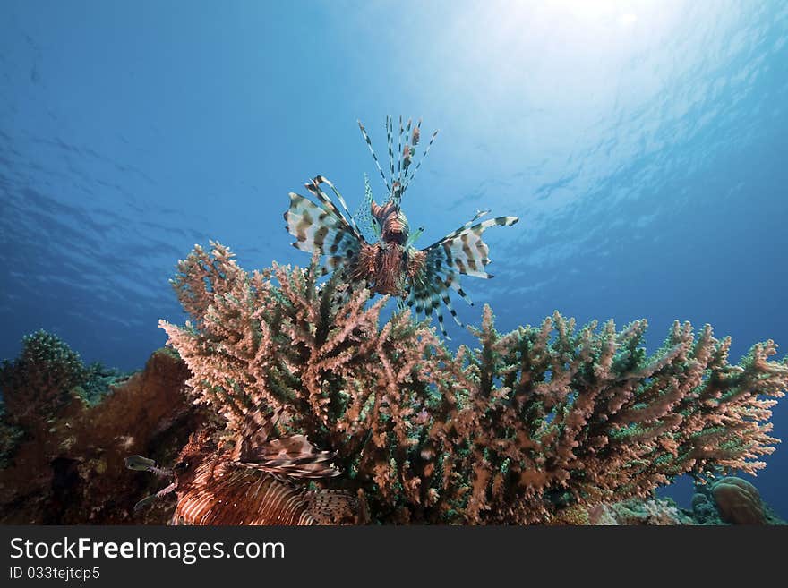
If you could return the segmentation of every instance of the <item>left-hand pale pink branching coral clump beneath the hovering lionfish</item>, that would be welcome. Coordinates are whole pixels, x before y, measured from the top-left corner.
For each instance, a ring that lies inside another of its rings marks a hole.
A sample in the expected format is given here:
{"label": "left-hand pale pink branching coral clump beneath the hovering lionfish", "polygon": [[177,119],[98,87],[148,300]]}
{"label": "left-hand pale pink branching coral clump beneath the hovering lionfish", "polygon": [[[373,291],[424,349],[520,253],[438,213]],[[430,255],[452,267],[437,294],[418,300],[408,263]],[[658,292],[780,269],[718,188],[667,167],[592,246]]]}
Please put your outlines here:
{"label": "left-hand pale pink branching coral clump beneath the hovering lionfish", "polygon": [[193,371],[197,401],[224,414],[228,430],[253,407],[284,408],[286,426],[337,452],[380,512],[430,499],[411,460],[430,388],[450,378],[431,330],[407,314],[379,330],[387,299],[367,308],[369,292],[344,293],[338,278],[319,289],[315,266],[248,276],[214,244],[179,270],[174,285],[194,324],[161,325]]}

